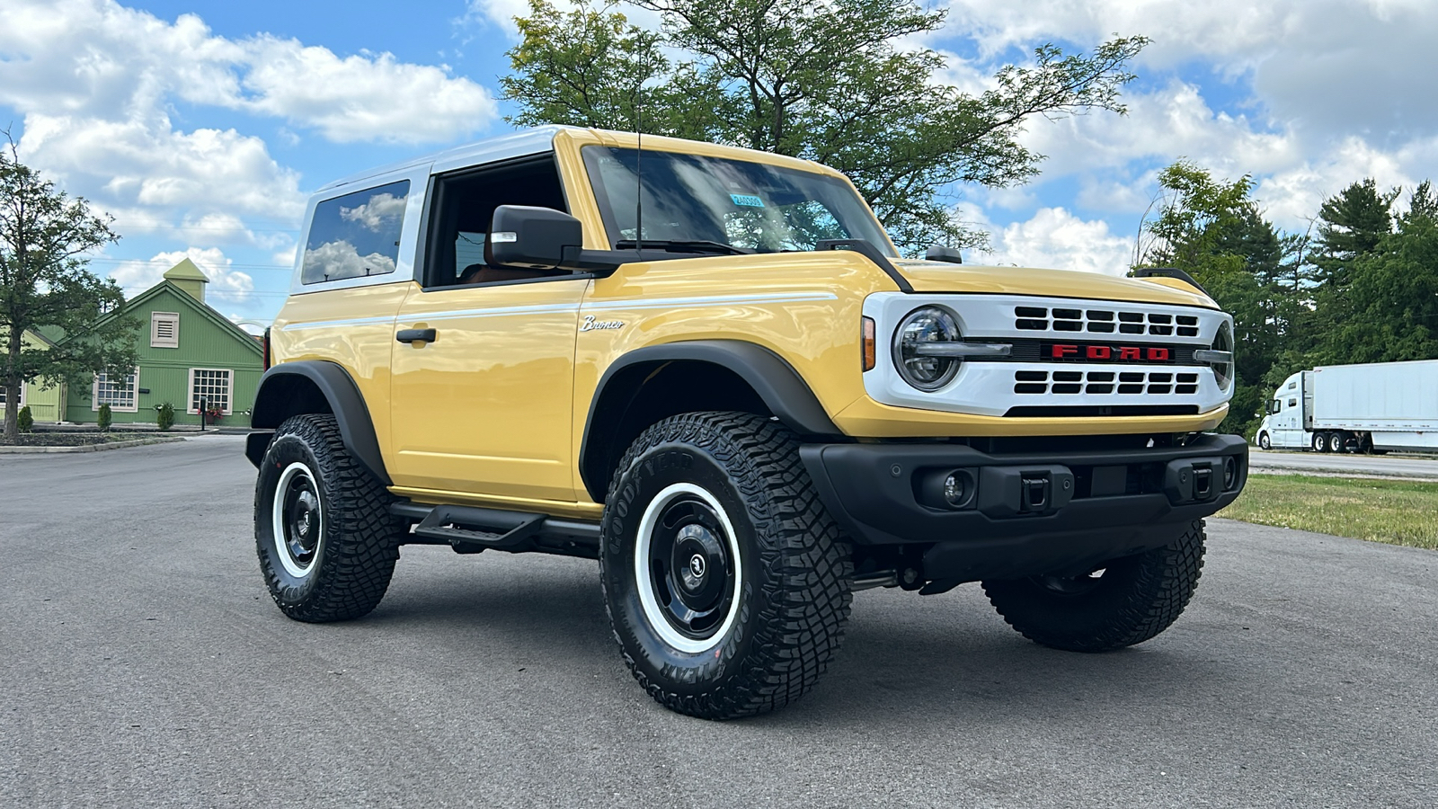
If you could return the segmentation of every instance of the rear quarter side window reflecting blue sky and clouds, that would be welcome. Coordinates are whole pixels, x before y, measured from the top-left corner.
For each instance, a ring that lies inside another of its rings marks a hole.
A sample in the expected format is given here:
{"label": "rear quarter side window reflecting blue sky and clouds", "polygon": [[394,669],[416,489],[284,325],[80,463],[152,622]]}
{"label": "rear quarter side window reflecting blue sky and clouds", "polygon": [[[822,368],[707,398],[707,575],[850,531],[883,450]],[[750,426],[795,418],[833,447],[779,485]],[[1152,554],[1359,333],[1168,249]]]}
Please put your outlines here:
{"label": "rear quarter side window reflecting blue sky and clouds", "polygon": [[410,181],[400,180],[315,206],[301,284],[388,275],[400,261]]}

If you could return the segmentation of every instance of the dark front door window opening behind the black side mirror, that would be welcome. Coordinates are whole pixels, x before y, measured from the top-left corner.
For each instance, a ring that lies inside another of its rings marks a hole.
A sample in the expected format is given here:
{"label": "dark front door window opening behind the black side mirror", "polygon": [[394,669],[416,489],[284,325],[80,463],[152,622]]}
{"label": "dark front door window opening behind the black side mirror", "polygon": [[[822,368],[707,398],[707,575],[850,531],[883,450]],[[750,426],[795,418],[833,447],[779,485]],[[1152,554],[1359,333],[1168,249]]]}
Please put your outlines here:
{"label": "dark front door window opening behind the black side mirror", "polygon": [[434,183],[426,286],[489,284],[568,275],[487,266],[485,239],[502,204],[528,204],[567,212],[564,186],[554,155],[528,158],[440,177]]}

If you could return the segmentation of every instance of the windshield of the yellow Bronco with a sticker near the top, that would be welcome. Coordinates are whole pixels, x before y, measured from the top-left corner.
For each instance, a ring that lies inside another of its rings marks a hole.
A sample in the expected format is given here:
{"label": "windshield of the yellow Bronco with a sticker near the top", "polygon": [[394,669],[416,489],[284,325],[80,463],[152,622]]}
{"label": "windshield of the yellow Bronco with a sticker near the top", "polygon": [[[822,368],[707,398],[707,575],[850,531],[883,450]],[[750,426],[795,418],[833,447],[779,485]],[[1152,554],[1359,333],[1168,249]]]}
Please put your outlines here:
{"label": "windshield of the yellow Bronco with a sticker near the top", "polygon": [[823,239],[867,239],[893,255],[848,183],[828,174],[673,151],[584,147],[613,248],[640,238],[636,166],[644,171],[646,242],[718,242],[742,250],[812,250]]}

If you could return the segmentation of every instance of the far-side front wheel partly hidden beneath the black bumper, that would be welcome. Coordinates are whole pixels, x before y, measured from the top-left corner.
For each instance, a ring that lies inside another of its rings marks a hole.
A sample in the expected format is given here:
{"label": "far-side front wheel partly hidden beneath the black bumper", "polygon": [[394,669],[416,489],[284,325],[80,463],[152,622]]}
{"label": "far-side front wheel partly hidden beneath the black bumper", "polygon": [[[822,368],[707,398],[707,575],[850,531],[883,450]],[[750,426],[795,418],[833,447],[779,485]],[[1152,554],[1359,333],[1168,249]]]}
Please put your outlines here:
{"label": "far-side front wheel partly hidden beneath the black bumper", "polygon": [[1142,643],[1188,606],[1204,567],[1204,521],[1165,547],[1110,560],[1084,576],[984,582],[989,603],[1044,646],[1106,652]]}

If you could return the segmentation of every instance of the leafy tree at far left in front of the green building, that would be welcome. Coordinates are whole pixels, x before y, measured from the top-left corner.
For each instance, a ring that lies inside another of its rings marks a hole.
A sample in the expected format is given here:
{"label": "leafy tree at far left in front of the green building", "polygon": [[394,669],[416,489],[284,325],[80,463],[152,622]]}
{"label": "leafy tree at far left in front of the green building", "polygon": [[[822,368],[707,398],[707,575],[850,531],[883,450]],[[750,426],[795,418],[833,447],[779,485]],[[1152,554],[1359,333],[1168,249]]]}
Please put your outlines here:
{"label": "leafy tree at far left in front of the green building", "polygon": [[[115,242],[109,219],[89,212],[20,163],[14,140],[0,151],[0,386],[4,440],[17,436],[20,386],[40,377],[83,379],[108,367],[135,364],[135,324],[114,279],[86,268],[88,250]],[[68,340],[47,350],[24,345],[26,331],[58,330]]]}

